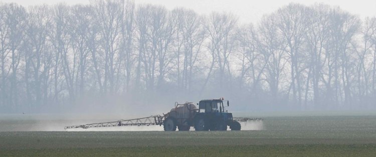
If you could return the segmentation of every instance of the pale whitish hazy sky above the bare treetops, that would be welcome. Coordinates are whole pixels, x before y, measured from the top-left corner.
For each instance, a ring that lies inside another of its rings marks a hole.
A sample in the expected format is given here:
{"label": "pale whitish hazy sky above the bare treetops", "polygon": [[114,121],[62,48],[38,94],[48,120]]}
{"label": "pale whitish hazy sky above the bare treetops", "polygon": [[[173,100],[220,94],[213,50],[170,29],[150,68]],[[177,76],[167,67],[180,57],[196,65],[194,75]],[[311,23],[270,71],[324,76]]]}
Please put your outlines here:
{"label": "pale whitish hazy sky above the bare treetops", "polygon": [[[0,0],[0,2],[14,2],[23,6],[30,6],[39,4],[56,4],[59,2],[65,2],[67,4],[88,4],[90,0]],[[279,7],[291,2],[305,5],[324,3],[332,6],[339,6],[343,10],[359,15],[361,18],[376,16],[375,0],[135,0],[136,4],[160,4],[168,9],[173,9],[175,7],[190,8],[200,14],[209,14],[212,11],[227,11],[239,16],[241,22],[253,23],[258,22],[262,15],[274,12]]]}

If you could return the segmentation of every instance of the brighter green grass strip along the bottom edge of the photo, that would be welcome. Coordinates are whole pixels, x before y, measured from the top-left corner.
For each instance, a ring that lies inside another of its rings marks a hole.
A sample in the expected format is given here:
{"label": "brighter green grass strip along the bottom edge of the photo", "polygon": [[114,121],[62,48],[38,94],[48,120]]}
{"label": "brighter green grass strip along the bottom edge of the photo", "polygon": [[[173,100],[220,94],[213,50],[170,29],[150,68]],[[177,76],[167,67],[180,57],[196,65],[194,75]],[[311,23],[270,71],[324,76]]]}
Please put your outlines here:
{"label": "brighter green grass strip along the bottom edge of the photo", "polygon": [[376,146],[359,145],[207,145],[71,149],[21,149],[3,156],[374,156]]}

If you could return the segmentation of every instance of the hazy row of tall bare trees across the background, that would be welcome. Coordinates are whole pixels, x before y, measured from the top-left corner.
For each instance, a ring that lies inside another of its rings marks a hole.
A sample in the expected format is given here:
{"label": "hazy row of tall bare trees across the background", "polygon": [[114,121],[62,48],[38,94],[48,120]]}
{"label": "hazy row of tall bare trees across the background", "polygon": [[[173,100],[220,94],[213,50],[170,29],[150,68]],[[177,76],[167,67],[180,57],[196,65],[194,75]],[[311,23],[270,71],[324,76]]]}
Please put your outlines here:
{"label": "hazy row of tall bare trees across the background", "polygon": [[376,18],[324,4],[255,24],[123,0],[1,4],[0,66],[0,112],[220,96],[242,109],[374,108]]}

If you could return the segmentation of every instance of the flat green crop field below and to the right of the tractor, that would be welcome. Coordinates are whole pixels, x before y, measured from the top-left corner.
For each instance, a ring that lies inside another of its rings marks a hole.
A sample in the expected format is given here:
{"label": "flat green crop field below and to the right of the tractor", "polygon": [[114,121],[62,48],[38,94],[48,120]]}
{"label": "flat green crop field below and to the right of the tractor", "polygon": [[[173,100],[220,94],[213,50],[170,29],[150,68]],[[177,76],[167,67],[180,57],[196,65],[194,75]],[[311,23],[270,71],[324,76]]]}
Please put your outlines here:
{"label": "flat green crop field below and to the right of the tractor", "polygon": [[0,132],[0,156],[376,155],[376,116],[266,117],[263,125],[248,131]]}

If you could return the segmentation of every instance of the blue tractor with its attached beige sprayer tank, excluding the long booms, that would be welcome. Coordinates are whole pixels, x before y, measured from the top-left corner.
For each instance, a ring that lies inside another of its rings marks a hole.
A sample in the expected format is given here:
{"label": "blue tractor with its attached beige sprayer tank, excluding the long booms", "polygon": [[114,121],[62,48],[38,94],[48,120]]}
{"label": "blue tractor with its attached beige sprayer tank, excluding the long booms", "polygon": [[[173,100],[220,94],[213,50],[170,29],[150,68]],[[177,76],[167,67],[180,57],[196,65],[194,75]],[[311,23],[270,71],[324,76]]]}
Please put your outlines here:
{"label": "blue tractor with its attached beige sprayer tank, excluding the long booms", "polygon": [[191,102],[175,103],[175,108],[164,114],[164,130],[175,131],[177,128],[179,131],[187,131],[191,126],[196,131],[227,130],[227,126],[231,130],[240,130],[240,123],[233,119],[232,113],[225,110],[224,102],[229,106],[229,101],[223,98],[201,100],[197,104],[199,108]]}

